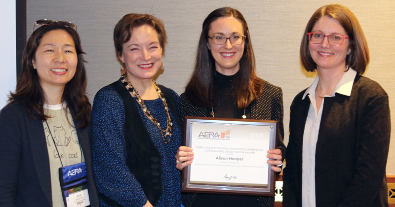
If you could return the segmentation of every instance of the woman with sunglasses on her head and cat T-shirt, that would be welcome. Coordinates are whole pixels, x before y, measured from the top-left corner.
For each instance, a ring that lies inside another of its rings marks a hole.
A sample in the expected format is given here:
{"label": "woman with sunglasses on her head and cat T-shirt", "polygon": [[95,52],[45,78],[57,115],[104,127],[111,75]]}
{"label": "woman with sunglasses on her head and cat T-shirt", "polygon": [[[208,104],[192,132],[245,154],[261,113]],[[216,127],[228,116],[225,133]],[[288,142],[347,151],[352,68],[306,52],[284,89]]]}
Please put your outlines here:
{"label": "woman with sunglasses on her head and cat T-shirt", "polygon": [[[76,25],[51,20],[36,25],[41,27],[27,41],[16,90],[0,112],[0,206],[98,206],[90,162],[91,105]],[[62,188],[59,169],[70,169],[65,179],[75,180],[67,176],[73,170],[84,175],[76,175],[79,184],[71,182],[79,201]]]}

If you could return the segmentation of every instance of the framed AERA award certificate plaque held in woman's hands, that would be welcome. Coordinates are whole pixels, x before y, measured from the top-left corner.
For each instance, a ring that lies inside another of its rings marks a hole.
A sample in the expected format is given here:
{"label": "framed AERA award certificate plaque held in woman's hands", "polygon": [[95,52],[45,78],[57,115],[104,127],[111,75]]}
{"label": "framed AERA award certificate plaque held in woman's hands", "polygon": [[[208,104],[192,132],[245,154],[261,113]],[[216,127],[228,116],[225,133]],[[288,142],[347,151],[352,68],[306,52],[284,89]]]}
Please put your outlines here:
{"label": "framed AERA award certificate plaque held in woman's hands", "polygon": [[274,196],[267,164],[276,148],[276,121],[186,117],[185,145],[194,149],[183,192]]}

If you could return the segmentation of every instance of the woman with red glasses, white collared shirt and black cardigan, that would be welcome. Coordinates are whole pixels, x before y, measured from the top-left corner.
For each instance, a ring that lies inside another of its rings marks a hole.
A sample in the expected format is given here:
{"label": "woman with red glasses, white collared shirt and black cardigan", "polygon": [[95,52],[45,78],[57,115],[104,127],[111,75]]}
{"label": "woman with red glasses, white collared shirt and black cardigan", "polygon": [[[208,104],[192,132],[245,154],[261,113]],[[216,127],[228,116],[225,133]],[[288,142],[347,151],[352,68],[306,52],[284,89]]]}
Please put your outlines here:
{"label": "woman with red glasses, white collared shirt and black cardigan", "polygon": [[354,14],[340,4],[316,10],[300,56],[318,76],[291,105],[283,206],[388,207],[388,95],[361,76],[369,51]]}

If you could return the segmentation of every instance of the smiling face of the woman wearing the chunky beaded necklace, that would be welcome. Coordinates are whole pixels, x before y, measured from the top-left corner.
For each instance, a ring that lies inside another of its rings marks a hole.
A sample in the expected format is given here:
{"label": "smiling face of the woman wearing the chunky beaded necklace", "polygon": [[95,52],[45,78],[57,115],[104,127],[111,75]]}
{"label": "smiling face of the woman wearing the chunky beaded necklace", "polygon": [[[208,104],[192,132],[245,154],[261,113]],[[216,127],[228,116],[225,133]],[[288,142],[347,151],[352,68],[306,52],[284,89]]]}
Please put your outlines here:
{"label": "smiling face of the woman wearing the chunky beaded necklace", "polygon": [[151,81],[162,66],[162,48],[157,31],[150,25],[133,28],[129,41],[123,44],[119,59],[125,64],[131,82]]}

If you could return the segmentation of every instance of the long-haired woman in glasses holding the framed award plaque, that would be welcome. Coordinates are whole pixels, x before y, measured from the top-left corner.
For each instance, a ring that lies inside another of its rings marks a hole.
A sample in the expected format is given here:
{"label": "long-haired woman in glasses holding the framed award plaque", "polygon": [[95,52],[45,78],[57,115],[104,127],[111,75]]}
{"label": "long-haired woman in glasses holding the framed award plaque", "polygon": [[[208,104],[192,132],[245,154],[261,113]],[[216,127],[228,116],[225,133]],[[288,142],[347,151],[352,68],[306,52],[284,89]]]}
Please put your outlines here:
{"label": "long-haired woman in glasses holding the framed award plaque", "polygon": [[[268,151],[267,163],[280,172],[285,146],[282,138],[283,108],[280,87],[258,78],[247,23],[234,8],[211,12],[203,22],[194,72],[180,96],[184,116],[260,119],[278,121],[278,149]],[[182,170],[194,159],[192,148],[181,146],[176,155]],[[196,156],[199,156],[196,154]],[[274,197],[188,194],[187,207],[272,207]]]}

